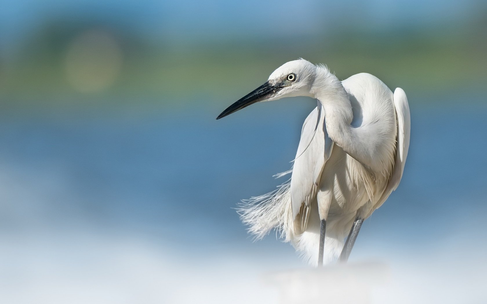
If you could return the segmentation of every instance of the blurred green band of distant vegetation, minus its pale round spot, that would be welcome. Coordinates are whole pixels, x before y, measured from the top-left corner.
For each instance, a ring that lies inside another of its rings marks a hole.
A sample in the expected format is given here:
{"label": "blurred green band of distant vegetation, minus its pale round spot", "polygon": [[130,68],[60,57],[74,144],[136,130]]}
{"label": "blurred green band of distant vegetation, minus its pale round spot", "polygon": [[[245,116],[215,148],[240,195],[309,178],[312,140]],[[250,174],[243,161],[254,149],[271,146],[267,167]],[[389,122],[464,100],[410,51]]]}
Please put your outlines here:
{"label": "blurred green band of distant vegetation, minus its pale round spot", "polygon": [[[327,64],[341,79],[370,72],[392,89],[402,87],[417,95],[479,90],[487,85],[483,26],[471,22],[454,31],[343,30],[333,36],[179,43],[145,41],[116,27],[57,21],[26,39],[13,59],[0,62],[0,98],[5,107],[69,102],[94,106],[113,99],[129,104],[158,101],[164,106],[198,99],[233,101],[298,57]],[[109,87],[83,93],[67,80],[66,54],[76,36],[94,28],[118,41],[123,61]]]}

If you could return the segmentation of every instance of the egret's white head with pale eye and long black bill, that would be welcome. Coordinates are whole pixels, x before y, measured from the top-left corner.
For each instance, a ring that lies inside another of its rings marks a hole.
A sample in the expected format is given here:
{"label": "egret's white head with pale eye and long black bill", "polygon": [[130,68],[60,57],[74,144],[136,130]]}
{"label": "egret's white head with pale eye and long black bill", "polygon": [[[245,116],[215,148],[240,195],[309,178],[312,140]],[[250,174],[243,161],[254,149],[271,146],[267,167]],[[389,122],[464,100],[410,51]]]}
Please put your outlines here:
{"label": "egret's white head with pale eye and long black bill", "polygon": [[251,91],[230,107],[227,107],[217,119],[230,115],[244,107],[261,101],[278,100],[283,97],[310,96],[311,85],[315,79],[317,67],[304,59],[284,63],[272,72],[269,79],[259,88]]}

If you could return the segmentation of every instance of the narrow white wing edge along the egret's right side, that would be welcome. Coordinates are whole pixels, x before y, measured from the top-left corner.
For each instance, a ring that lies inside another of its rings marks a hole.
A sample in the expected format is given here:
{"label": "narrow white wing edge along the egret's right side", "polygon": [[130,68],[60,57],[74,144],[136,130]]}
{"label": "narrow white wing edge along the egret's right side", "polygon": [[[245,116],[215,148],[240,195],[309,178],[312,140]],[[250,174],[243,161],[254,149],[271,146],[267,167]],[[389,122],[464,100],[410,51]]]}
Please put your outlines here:
{"label": "narrow white wing edge along the egret's right side", "polygon": [[396,156],[394,162],[394,170],[391,178],[384,190],[384,193],[377,201],[375,208],[379,208],[389,197],[389,195],[397,189],[404,171],[404,164],[408,156],[409,140],[411,133],[411,114],[409,112],[408,98],[403,89],[397,88],[394,91],[394,107],[397,117],[397,140],[396,140]]}

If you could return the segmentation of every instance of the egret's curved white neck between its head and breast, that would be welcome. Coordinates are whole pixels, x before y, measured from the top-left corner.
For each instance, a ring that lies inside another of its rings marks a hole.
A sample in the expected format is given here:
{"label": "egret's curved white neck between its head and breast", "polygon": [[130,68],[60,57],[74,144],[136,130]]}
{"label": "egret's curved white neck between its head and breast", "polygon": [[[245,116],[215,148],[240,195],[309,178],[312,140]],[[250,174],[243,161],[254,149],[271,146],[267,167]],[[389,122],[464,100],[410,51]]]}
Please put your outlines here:
{"label": "egret's curved white neck between its head and breast", "polygon": [[352,105],[338,78],[326,68],[318,67],[312,93],[323,106],[328,136],[351,157],[374,169],[373,146],[366,136],[360,135],[360,127],[352,127]]}

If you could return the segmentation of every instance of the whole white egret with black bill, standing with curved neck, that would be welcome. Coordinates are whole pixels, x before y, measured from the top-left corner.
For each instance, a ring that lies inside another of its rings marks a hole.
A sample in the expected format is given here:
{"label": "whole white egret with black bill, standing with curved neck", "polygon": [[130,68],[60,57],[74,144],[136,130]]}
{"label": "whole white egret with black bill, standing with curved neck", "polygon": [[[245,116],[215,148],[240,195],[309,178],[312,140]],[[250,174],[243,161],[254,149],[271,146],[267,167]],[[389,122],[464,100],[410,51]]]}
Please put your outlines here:
{"label": "whole white egret with black bill, standing with curved neck", "polygon": [[299,59],[283,64],[217,119],[292,96],[315,98],[318,106],[302,126],[293,168],[286,172],[292,171],[291,179],[245,201],[240,213],[251,233],[263,237],[279,229],[311,264],[347,261],[363,220],[402,178],[410,141],[408,100],[402,89],[393,93],[371,74],[339,81],[327,67]]}

